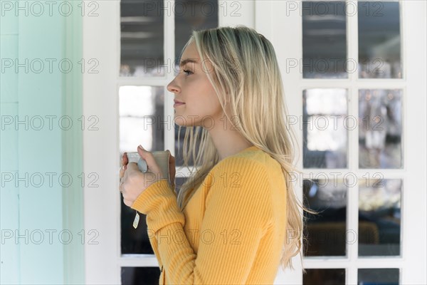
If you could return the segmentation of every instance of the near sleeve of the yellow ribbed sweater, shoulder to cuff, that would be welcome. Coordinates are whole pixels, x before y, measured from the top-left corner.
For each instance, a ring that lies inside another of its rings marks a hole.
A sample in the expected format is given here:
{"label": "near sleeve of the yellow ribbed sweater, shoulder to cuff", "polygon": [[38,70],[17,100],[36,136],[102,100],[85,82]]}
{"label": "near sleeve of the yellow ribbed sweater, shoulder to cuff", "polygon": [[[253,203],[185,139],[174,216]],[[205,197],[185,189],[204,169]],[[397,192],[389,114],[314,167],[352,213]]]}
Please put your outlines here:
{"label": "near sleeve of the yellow ribbed sweater, shoulder to cuff", "polygon": [[245,284],[263,233],[271,222],[265,167],[229,157],[211,171],[206,210],[195,254],[184,233],[184,214],[166,180],[150,185],[132,204],[147,214],[157,251],[172,284]]}

